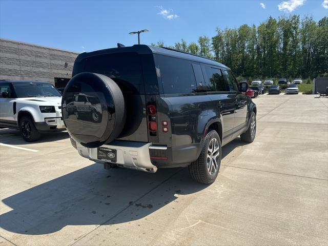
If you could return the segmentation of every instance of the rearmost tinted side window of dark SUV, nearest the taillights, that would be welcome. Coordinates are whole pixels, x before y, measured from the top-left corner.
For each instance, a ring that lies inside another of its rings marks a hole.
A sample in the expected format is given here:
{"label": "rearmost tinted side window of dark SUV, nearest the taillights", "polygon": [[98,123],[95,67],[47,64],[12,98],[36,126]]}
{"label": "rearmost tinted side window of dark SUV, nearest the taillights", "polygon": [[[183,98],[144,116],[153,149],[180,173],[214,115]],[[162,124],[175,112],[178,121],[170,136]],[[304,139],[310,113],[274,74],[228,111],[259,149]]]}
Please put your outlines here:
{"label": "rearmost tinted side window of dark SUV, nearest the taillights", "polygon": [[192,63],[164,55],[154,55],[157,73],[165,94],[193,93],[197,91]]}

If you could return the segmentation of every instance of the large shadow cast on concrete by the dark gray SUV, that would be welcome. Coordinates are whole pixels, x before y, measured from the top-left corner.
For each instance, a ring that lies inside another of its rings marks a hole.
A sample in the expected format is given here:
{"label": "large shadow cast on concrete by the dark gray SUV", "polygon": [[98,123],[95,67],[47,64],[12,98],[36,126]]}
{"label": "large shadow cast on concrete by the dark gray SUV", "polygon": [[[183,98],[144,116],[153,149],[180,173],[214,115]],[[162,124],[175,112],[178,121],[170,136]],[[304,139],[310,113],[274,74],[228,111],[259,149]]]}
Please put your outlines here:
{"label": "large shadow cast on concrete by the dark gray SUV", "polygon": [[[243,142],[237,138],[224,146],[223,158],[240,145]],[[193,181],[187,168],[160,169],[151,174],[104,170],[103,165],[94,163],[3,199],[12,210],[0,215],[0,227],[40,235],[69,225],[124,223],[152,214],[177,199],[177,194],[207,187]]]}

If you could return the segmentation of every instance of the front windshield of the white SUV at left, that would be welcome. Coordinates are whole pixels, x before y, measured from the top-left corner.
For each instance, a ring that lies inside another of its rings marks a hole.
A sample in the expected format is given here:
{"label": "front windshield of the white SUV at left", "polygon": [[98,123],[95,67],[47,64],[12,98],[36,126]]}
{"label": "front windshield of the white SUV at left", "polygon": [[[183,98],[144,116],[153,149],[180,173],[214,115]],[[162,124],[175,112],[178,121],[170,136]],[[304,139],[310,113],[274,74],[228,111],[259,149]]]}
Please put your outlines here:
{"label": "front windshield of the white SUV at left", "polygon": [[61,96],[60,92],[49,83],[22,83],[13,84],[16,96],[19,97],[40,97],[40,96]]}

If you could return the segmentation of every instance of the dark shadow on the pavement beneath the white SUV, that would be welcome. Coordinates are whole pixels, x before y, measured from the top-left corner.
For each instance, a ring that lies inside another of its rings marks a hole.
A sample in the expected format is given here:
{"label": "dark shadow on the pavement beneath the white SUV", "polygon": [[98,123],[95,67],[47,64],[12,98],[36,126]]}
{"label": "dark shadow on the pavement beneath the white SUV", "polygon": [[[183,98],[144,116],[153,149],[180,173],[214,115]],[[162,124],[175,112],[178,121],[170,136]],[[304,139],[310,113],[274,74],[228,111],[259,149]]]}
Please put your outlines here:
{"label": "dark shadow on the pavement beneath the white SUV", "polygon": [[27,142],[20,135],[19,130],[14,129],[0,129],[0,139],[3,144],[7,145],[30,145],[42,142],[58,141],[69,138],[67,131],[50,132],[42,134],[41,138],[35,142]]}

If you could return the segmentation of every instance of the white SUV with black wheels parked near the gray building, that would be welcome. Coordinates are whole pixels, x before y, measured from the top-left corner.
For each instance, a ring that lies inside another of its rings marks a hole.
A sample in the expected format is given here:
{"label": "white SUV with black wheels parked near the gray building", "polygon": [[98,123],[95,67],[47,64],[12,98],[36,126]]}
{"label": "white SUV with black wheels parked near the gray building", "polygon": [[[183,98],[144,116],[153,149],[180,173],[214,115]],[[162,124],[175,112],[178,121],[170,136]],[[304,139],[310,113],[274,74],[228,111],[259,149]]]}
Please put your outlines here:
{"label": "white SUV with black wheels parked near the gray building", "polygon": [[46,82],[1,80],[0,128],[18,129],[26,141],[65,130],[60,92]]}

